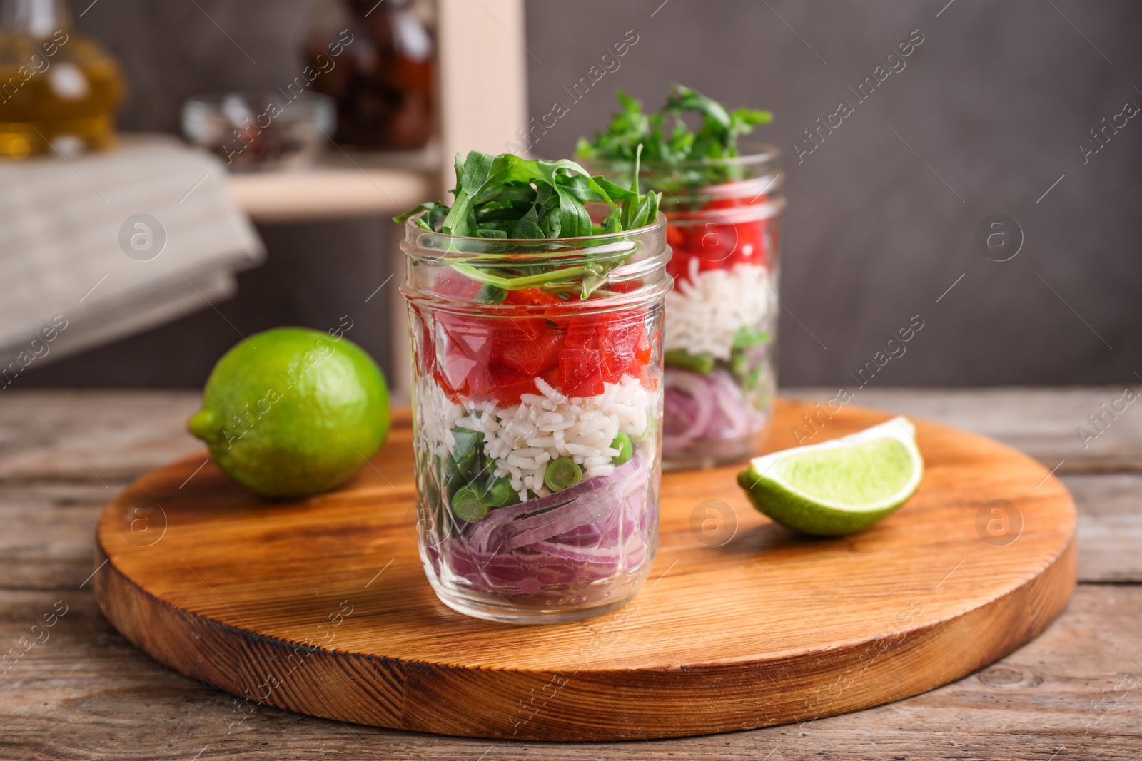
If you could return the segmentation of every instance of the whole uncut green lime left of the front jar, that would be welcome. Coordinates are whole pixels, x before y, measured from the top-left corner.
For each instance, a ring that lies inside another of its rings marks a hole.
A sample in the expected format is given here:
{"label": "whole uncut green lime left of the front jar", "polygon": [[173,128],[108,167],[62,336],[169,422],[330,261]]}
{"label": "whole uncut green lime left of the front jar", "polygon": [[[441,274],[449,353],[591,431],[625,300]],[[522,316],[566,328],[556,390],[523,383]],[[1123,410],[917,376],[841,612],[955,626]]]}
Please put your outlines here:
{"label": "whole uncut green lime left of the front jar", "polygon": [[346,338],[275,327],[215,365],[186,429],[231,478],[273,499],[344,484],[388,434],[380,369]]}

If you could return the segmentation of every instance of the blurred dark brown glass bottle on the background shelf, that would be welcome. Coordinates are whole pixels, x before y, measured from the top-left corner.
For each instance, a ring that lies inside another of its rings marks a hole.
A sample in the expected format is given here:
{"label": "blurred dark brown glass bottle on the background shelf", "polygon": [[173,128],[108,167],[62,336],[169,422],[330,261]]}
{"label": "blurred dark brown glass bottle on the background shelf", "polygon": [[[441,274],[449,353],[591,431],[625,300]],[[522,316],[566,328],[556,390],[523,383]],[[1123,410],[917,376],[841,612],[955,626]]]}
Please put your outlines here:
{"label": "blurred dark brown glass bottle on the background shelf", "polygon": [[[433,133],[435,43],[411,0],[348,0],[352,40],[330,67],[322,31],[306,57],[323,72],[313,89],[337,104],[333,139],[361,148],[419,148]],[[340,46],[338,46],[340,49]]]}

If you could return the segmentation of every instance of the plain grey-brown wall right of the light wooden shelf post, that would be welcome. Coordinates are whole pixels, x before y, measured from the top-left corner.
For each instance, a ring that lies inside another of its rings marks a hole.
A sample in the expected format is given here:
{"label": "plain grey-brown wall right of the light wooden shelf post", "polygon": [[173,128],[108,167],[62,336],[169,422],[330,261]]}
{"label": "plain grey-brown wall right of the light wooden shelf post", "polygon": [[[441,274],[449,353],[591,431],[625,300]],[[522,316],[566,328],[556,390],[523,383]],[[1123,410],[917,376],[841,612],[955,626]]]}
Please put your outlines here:
{"label": "plain grey-brown wall right of the light wooden shelf post", "polygon": [[[956,0],[940,13],[947,2],[533,2],[532,114],[566,100],[627,30],[640,35],[536,151],[573,149],[617,87],[654,107],[682,82],[773,110],[761,136],[787,153],[783,384],[852,384],[917,314],[924,329],[876,383],[1139,380],[1142,115],[1085,165],[1078,145],[1124,102],[1142,105],[1142,5]],[[847,88],[917,29],[906,67],[858,104]],[[854,113],[798,163],[793,141],[842,99]],[[1010,261],[973,243],[992,213],[1023,228]]]}

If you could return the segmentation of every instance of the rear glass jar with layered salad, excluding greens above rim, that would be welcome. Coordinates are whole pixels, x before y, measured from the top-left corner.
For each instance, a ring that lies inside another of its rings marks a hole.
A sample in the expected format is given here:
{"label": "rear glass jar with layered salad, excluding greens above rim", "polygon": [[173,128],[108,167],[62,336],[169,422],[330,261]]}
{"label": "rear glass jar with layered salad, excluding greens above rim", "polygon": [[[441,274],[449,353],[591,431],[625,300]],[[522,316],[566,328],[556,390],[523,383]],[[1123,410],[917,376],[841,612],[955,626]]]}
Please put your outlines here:
{"label": "rear glass jar with layered salad, excluding greens above rim", "polygon": [[[644,162],[640,186],[662,192],[668,265],[662,467],[713,468],[757,454],[777,392],[780,152],[677,164]],[[625,162],[584,161],[629,184]]]}

